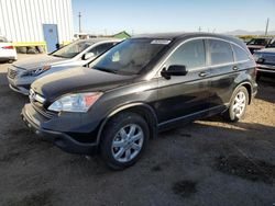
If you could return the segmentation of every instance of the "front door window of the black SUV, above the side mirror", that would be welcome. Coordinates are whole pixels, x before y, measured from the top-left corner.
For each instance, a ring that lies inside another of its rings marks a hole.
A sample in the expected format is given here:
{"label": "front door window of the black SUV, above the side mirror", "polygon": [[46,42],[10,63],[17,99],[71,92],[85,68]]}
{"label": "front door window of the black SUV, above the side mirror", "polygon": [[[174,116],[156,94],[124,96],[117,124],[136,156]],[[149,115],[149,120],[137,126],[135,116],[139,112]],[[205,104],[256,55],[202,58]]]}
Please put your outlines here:
{"label": "front door window of the black SUV, above the side mirror", "polygon": [[205,67],[206,53],[204,41],[190,41],[179,46],[166,64],[167,67],[170,65],[184,65],[187,69]]}

